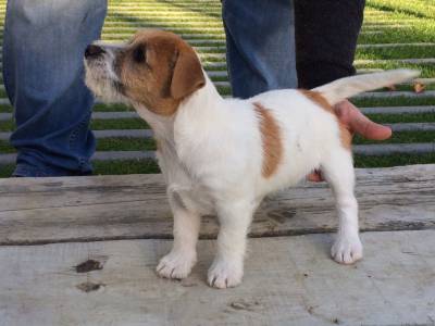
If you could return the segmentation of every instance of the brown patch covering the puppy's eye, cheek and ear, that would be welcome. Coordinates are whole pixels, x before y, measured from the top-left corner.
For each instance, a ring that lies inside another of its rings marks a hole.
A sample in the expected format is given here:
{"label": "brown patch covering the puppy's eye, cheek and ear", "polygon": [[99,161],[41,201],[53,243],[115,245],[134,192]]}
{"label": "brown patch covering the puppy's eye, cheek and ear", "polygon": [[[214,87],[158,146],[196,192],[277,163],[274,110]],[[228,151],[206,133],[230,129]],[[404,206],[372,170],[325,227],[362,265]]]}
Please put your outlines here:
{"label": "brown patch covering the puppy's eye, cheek and ear", "polygon": [[194,49],[173,33],[138,32],[115,60],[123,92],[160,115],[206,84]]}

